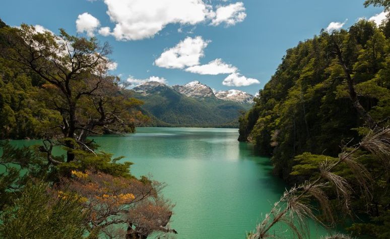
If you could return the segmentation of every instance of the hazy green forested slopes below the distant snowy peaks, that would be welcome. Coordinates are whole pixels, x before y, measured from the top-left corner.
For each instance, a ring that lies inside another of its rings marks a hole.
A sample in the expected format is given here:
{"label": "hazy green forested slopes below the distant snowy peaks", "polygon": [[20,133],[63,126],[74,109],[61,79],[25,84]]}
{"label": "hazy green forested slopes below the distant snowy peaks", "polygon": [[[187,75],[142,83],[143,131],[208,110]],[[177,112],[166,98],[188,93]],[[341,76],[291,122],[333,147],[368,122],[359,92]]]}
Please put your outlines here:
{"label": "hazy green forested slopes below the distant snowy peaks", "polygon": [[188,97],[161,83],[147,93],[138,92],[143,86],[134,88],[133,97],[144,102],[141,110],[151,117],[147,123],[151,126],[237,128],[240,112],[251,106],[216,97]]}

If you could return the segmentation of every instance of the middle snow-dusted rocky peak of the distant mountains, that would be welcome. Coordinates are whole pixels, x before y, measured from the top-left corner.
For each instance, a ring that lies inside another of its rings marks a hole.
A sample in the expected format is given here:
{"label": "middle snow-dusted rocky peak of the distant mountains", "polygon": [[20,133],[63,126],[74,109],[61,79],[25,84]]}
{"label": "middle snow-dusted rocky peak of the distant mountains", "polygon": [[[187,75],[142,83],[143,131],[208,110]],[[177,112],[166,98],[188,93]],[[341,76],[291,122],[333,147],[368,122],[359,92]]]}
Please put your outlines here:
{"label": "middle snow-dusted rocky peak of the distant mountains", "polygon": [[192,98],[215,97],[213,90],[199,81],[192,81],[183,86],[172,86],[177,92]]}

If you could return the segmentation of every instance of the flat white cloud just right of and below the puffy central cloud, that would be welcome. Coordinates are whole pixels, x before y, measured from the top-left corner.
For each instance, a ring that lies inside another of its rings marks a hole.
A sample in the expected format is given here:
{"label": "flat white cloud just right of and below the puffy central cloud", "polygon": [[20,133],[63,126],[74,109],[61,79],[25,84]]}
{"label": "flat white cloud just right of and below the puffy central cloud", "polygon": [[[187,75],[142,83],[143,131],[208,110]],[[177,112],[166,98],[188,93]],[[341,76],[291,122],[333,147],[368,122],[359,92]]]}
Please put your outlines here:
{"label": "flat white cloud just right of and below the puffy central cloud", "polygon": [[209,62],[206,65],[188,67],[186,72],[198,73],[201,75],[218,75],[235,73],[238,69],[230,64],[226,64],[221,58]]}

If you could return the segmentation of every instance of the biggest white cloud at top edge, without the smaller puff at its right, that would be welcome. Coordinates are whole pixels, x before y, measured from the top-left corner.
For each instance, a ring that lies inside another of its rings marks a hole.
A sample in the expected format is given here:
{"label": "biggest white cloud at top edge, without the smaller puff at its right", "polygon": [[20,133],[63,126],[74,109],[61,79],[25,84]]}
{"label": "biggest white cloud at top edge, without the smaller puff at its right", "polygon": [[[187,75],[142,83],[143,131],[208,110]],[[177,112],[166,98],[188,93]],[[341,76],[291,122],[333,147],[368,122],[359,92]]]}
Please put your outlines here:
{"label": "biggest white cloud at top edge, without the smaller puff at its right", "polygon": [[210,18],[212,7],[201,0],[104,0],[116,23],[117,40],[153,37],[170,23],[198,24]]}

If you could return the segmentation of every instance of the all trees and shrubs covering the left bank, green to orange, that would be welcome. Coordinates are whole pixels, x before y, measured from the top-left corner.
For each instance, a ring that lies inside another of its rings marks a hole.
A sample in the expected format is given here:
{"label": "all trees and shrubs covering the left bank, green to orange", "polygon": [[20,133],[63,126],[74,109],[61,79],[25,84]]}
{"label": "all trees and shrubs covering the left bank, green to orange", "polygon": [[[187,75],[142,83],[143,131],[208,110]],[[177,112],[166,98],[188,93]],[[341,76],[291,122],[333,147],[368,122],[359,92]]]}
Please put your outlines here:
{"label": "all trees and shrubs covering the left bank, green to orange", "polygon": [[[0,137],[43,138],[32,149],[0,145],[0,237],[176,233],[167,227],[173,205],[159,195],[163,185],[138,180],[131,162],[87,138],[134,132],[146,120],[142,102],[108,74],[109,45],[0,23]],[[66,155],[53,155],[55,147]]]}

